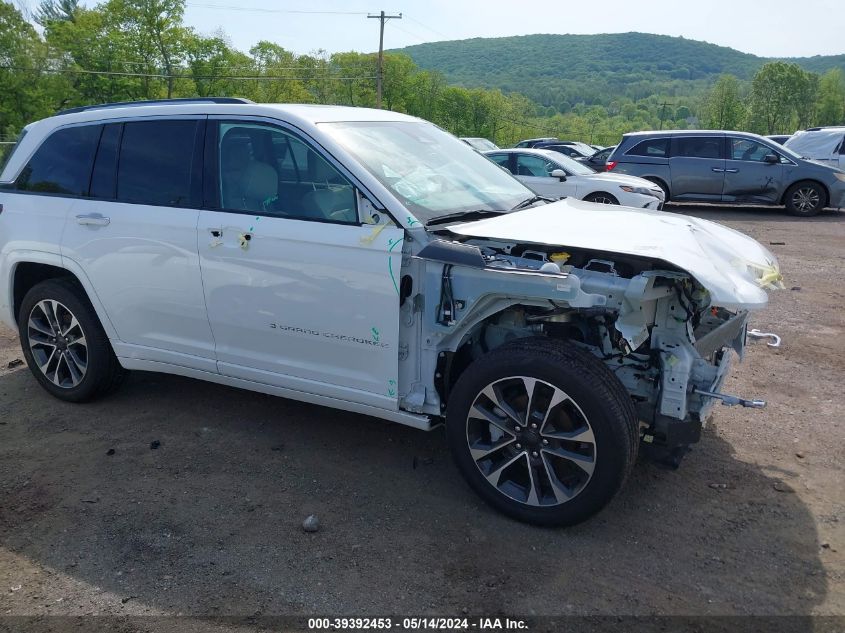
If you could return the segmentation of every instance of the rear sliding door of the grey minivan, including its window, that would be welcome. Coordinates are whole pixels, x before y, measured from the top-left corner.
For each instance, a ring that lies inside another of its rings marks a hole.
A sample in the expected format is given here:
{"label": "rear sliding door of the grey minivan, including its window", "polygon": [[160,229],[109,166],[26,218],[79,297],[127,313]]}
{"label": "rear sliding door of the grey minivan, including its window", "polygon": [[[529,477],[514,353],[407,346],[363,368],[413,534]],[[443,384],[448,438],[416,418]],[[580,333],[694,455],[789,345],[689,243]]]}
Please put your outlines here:
{"label": "rear sliding door of the grey minivan, including its window", "polygon": [[724,135],[674,136],[669,158],[673,200],[722,199]]}

